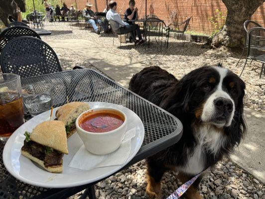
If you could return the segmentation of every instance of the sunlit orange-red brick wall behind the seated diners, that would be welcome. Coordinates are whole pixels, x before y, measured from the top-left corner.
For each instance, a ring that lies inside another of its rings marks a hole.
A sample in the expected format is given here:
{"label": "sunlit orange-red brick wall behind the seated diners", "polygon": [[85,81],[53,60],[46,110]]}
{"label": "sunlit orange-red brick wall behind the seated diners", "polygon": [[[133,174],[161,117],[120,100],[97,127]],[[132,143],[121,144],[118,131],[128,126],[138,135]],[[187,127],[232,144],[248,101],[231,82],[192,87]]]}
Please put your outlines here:
{"label": "sunlit orange-red brick wall behind the seated diners", "polygon": [[[88,0],[94,4],[94,0]],[[74,4],[75,0],[65,0],[66,4]],[[85,7],[87,0],[77,0],[78,9]],[[118,11],[124,14],[128,7],[129,0],[117,0]],[[139,10],[139,16],[144,16],[145,0],[135,0]],[[97,0],[99,11],[103,11],[106,7],[106,0]],[[219,9],[226,15],[226,7],[222,0],[147,0],[147,14],[153,10],[153,14],[166,23],[172,21],[174,13],[177,14],[177,20],[182,21],[187,17],[192,16],[188,30],[210,34],[214,27],[209,21],[209,17],[216,14],[215,10]],[[93,6],[93,10],[95,7]],[[171,16],[171,17],[170,17]],[[261,5],[254,15],[252,20],[265,26],[265,3]]]}

